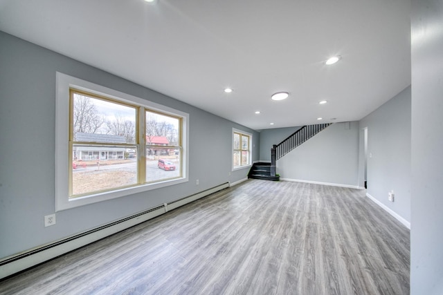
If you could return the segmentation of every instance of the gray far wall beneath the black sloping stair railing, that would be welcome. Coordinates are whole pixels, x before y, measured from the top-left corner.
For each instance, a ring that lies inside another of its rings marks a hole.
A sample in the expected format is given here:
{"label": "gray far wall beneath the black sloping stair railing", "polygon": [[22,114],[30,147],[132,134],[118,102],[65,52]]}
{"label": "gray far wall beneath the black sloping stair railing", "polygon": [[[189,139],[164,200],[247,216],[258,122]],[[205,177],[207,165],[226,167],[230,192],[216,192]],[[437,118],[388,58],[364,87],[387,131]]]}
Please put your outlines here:
{"label": "gray far wall beneath the black sloping stair railing", "polygon": [[358,184],[359,122],[335,123],[277,161],[281,178]]}

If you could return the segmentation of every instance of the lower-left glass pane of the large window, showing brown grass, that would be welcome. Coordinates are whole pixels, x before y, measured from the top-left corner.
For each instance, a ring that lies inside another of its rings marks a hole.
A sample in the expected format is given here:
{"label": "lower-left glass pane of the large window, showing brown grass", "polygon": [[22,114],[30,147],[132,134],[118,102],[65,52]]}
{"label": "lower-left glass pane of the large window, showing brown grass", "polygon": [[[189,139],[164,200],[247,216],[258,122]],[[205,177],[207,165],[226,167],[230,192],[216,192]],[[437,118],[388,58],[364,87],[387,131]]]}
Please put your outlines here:
{"label": "lower-left glass pane of the large window, showing brown grass", "polygon": [[128,151],[136,146],[73,144],[73,197],[136,184],[137,161]]}

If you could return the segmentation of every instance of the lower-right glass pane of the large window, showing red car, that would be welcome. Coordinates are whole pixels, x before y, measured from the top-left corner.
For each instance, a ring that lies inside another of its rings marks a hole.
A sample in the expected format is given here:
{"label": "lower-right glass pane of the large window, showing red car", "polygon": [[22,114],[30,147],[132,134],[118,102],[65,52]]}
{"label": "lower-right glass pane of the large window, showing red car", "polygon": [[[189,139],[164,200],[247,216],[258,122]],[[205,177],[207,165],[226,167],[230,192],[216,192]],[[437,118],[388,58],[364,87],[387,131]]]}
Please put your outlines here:
{"label": "lower-right glass pane of the large window, showing red car", "polygon": [[152,147],[146,149],[146,182],[181,176],[180,149]]}

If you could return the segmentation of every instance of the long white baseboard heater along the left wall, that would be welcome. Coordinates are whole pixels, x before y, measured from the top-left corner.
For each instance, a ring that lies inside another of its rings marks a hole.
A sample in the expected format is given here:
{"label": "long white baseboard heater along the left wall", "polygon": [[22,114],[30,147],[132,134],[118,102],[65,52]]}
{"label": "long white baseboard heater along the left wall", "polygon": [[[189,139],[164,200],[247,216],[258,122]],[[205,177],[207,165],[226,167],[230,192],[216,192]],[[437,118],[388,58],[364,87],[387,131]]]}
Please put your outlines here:
{"label": "long white baseboard heater along the left wall", "polygon": [[172,209],[183,206],[200,198],[221,191],[229,187],[229,182],[224,184],[219,184],[217,187],[206,189],[199,193],[195,193],[191,196],[181,198],[179,200],[174,200],[170,203],[164,203],[158,207],[154,207],[143,212],[136,213],[127,218],[122,218],[114,222],[110,222],[107,225],[102,225],[101,227],[96,227],[95,229],[90,229],[89,231],[84,231],[80,234],[64,238],[62,240],[57,240],[55,242],[42,245],[35,249],[30,249],[21,254],[15,256],[10,256],[3,260],[0,260],[0,279],[21,272],[25,269],[44,263],[47,260],[51,260],[58,256],[73,251],[80,247],[90,244],[91,242],[96,242],[107,236],[118,233],[118,231],[123,231],[134,225],[138,225],[141,222],[145,222],[154,217],[160,216]]}

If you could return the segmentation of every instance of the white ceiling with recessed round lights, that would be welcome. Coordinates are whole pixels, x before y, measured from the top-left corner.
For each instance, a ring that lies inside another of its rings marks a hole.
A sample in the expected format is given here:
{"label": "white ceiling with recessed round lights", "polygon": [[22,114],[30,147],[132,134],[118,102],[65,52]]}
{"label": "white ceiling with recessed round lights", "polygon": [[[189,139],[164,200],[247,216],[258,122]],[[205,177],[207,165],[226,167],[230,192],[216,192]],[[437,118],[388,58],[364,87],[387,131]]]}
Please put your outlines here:
{"label": "white ceiling with recessed round lights", "polygon": [[409,0],[0,0],[0,30],[255,130],[360,120],[410,85]]}

